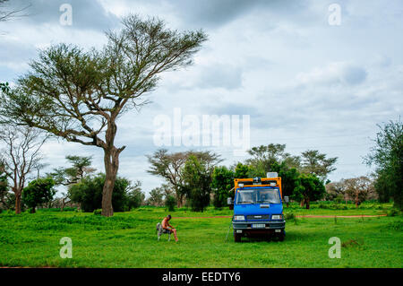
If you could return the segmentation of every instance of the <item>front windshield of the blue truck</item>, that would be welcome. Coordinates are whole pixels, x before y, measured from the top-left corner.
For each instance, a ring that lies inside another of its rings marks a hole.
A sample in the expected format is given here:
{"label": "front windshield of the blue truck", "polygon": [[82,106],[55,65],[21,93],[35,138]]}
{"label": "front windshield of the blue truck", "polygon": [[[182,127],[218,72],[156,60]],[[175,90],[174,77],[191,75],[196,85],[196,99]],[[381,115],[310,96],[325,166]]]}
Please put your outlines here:
{"label": "front windshield of the blue truck", "polygon": [[236,195],[236,204],[280,204],[278,189],[240,190]]}

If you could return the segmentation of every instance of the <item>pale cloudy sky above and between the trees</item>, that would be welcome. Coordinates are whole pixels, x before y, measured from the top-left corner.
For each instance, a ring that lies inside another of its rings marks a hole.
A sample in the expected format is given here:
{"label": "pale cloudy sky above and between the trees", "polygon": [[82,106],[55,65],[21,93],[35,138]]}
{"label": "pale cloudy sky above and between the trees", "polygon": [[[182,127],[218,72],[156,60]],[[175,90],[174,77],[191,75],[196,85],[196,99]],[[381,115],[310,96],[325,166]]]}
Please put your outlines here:
{"label": "pale cloudy sky above and between the trees", "polygon": [[[40,48],[67,42],[101,48],[105,30],[118,30],[127,13],[159,16],[178,30],[205,30],[209,40],[193,66],[163,74],[152,102],[121,117],[116,145],[126,145],[120,174],[139,179],[143,190],[159,186],[145,157],[156,117],[249,115],[251,146],[285,143],[287,152],[308,149],[339,157],[331,180],[365,175],[363,157],[377,124],[397,120],[403,106],[403,3],[396,1],[281,0],[11,0],[29,15],[0,22],[0,81],[29,70]],[[71,4],[72,25],[62,25]],[[340,8],[339,25],[330,23]],[[176,152],[190,147],[167,147]],[[205,150],[193,146],[193,150]],[[207,148],[230,165],[245,157],[234,147]],[[43,152],[48,169],[64,156],[102,152],[78,143],[52,141]]]}

